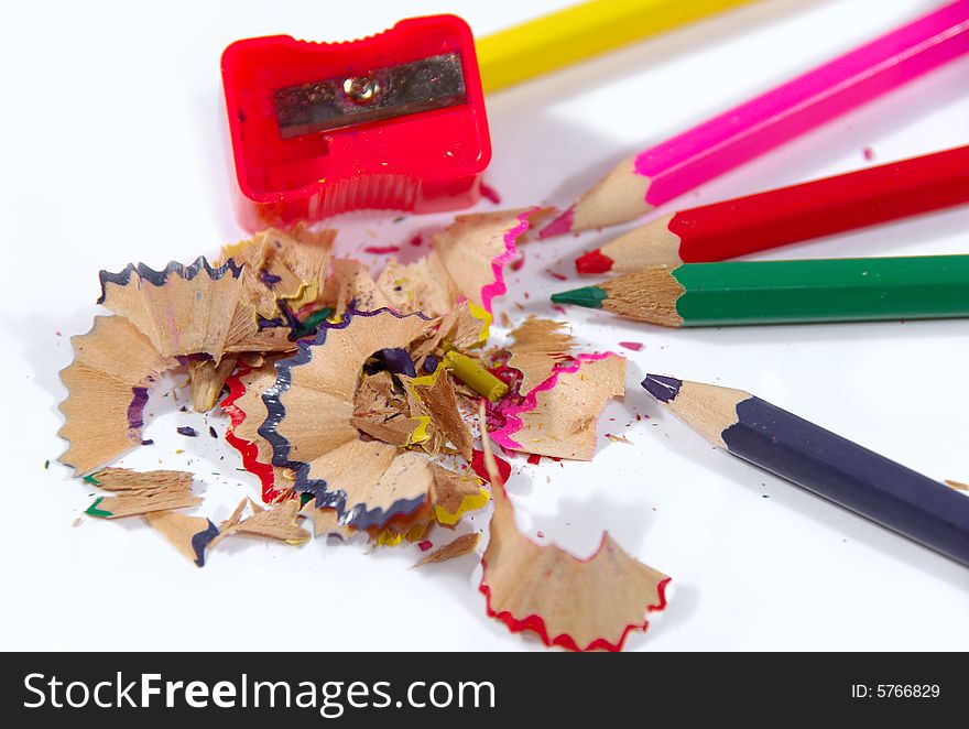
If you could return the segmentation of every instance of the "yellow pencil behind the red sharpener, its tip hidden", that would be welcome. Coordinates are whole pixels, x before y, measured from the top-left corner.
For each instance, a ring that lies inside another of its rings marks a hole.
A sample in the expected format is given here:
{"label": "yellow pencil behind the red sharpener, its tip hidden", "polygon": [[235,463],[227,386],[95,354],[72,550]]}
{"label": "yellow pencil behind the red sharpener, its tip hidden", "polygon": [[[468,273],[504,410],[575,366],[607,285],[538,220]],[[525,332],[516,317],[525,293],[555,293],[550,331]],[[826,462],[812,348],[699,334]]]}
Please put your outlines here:
{"label": "yellow pencil behind the red sharpener, its tip hidden", "polygon": [[750,0],[589,0],[476,43],[481,81],[494,91]]}

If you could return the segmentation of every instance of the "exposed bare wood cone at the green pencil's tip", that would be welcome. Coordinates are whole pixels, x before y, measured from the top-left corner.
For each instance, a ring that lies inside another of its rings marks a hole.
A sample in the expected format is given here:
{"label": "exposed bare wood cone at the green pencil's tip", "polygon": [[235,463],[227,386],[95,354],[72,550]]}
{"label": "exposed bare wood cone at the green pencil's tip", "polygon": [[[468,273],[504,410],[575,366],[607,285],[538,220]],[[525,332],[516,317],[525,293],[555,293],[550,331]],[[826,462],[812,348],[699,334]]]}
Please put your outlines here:
{"label": "exposed bare wood cone at the green pencil's tip", "polygon": [[666,265],[651,265],[599,284],[608,296],[602,308],[640,322],[682,326],[683,317],[676,311],[676,302],[686,290],[673,278],[672,271]]}

